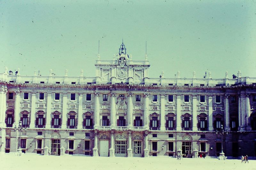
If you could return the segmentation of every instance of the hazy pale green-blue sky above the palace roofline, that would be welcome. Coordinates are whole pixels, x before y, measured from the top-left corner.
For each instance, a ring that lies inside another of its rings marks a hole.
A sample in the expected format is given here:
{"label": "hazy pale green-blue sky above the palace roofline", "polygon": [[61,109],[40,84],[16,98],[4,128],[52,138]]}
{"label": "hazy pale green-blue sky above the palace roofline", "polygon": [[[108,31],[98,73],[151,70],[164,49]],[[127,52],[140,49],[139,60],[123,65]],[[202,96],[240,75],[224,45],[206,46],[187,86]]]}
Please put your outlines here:
{"label": "hazy pale green-blue sky above the palace roofline", "polygon": [[[149,77],[256,77],[256,0],[0,1],[0,72],[95,77],[124,41]],[[208,74],[208,73],[207,73]]]}

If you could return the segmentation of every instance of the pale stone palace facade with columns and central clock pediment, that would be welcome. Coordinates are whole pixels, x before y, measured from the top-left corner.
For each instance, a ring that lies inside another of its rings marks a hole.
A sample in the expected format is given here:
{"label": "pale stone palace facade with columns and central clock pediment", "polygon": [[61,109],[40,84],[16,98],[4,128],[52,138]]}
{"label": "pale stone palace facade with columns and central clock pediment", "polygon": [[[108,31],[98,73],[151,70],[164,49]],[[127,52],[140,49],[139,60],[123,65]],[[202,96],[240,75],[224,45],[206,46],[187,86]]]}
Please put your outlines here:
{"label": "pale stone palace facade with columns and central clock pediment", "polygon": [[[88,156],[226,156],[256,153],[256,78],[149,78],[122,43],[96,60],[96,77],[0,74],[0,152]],[[23,130],[17,127],[21,121]]]}

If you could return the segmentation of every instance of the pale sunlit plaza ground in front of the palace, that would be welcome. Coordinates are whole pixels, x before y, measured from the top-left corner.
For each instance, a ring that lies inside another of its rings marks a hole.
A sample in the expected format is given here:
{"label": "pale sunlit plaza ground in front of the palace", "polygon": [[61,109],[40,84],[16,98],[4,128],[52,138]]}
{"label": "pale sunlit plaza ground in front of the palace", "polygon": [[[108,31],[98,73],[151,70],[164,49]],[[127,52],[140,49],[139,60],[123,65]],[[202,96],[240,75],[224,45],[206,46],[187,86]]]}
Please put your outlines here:
{"label": "pale sunlit plaza ground in front of the palace", "polygon": [[249,164],[242,164],[239,159],[227,159],[221,161],[213,158],[184,158],[176,160],[170,157],[149,158],[124,158],[124,157],[86,157],[86,156],[42,156],[36,154],[23,154],[20,157],[14,154],[0,155],[1,170],[79,170],[79,169],[243,169],[256,170],[256,160],[250,160]]}

